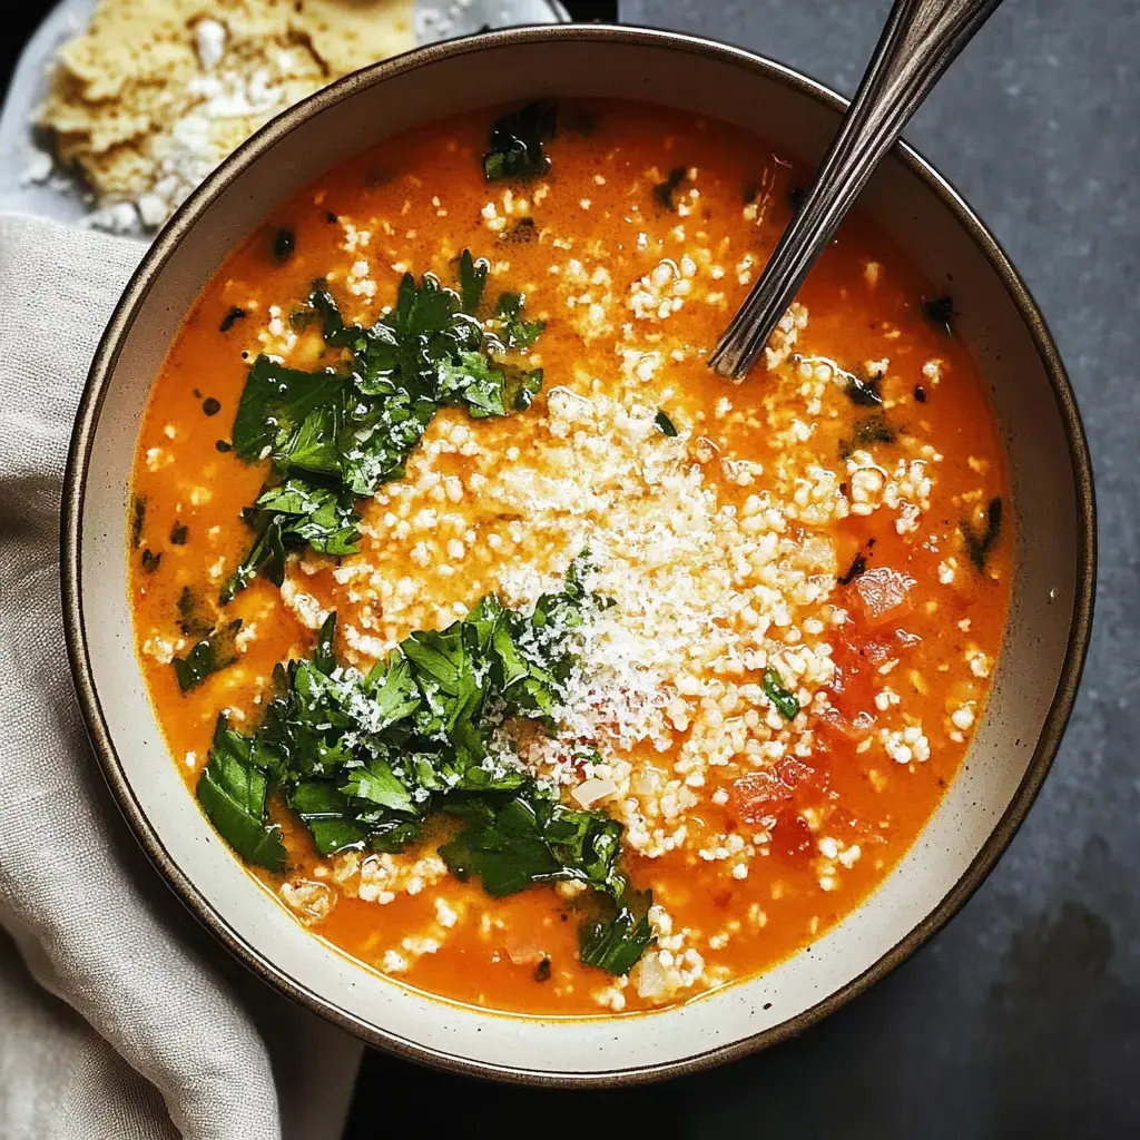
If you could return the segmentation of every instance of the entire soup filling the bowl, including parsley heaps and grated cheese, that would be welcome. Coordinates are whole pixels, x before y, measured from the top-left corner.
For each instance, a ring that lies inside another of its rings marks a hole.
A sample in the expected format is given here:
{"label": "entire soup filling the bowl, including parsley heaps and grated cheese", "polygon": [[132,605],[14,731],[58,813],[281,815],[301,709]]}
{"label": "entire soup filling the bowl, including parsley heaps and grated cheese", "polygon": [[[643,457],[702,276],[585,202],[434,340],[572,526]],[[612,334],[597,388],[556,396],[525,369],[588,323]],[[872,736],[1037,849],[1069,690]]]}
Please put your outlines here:
{"label": "entire soup filling the bowl, including parsley heaps and grated cheese", "polygon": [[1002,450],[953,301],[857,213],[709,370],[790,157],[635,104],[494,122],[344,163],[203,291],[138,443],[140,661],[315,935],[495,1010],[657,1009],[809,945],[937,806]]}

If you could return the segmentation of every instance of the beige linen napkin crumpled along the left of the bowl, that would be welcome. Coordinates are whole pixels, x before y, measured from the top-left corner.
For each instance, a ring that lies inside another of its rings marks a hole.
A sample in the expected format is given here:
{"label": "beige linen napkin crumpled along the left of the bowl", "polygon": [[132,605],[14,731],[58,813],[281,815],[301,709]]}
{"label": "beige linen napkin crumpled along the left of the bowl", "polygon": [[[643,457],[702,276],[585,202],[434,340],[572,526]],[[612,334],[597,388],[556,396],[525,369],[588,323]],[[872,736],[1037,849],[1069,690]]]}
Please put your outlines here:
{"label": "beige linen napkin crumpled along the left of the bowl", "polygon": [[0,936],[0,1137],[334,1140],[359,1045],[245,974],[166,890],[73,697],[60,482],[142,250],[0,214],[0,926],[19,951]]}

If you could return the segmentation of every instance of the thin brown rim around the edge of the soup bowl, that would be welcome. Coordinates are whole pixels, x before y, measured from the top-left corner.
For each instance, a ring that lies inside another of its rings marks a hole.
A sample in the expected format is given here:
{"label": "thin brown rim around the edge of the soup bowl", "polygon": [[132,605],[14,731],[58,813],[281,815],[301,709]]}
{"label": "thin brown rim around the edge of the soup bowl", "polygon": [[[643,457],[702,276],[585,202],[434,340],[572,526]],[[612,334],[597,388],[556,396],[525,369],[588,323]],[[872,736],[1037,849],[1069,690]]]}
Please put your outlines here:
{"label": "thin brown rim around the edge of the soup bowl", "polygon": [[274,142],[293,127],[315,112],[329,107],[352,95],[361,87],[383,82],[394,75],[435,59],[482,51],[484,48],[513,43],[544,43],[556,40],[576,39],[587,42],[614,42],[646,44],[669,48],[679,52],[700,55],[723,63],[743,67],[767,79],[809,96],[833,111],[842,111],[847,100],[836,92],[789,67],[763,56],[733,48],[711,40],[678,32],[666,32],[640,27],[620,27],[611,24],[545,25],[489,32],[479,36],[429,44],[385,63],[366,67],[347,75],[304,101],[286,109],[255,135],[246,140],[190,195],[158,235],[141,264],[135,271],[123,292],[96,351],[88,375],[83,398],[80,404],[72,435],[67,470],[64,475],[62,573],[64,628],[67,640],[67,656],[71,661],[75,689],[79,694],[88,733],[95,746],[96,756],[104,776],[120,809],[144,850],[149,856],[168,883],[181,901],[194,912],[202,923],[225,945],[254,970],[261,978],[282,993],[333,1021],[334,1024],[400,1057],[417,1060],[437,1068],[472,1076],[491,1077],[499,1081],[534,1085],[554,1086],[617,1086],[645,1083],[669,1076],[700,1072],[712,1065],[734,1060],[767,1045],[775,1044],[795,1034],[803,1033],[816,1021],[839,1009],[852,997],[863,993],[873,983],[888,975],[915,950],[940,930],[966,904],[975,890],[993,870],[997,860],[1009,846],[1033,805],[1041,784],[1049,772],[1061,736],[1068,724],[1076,699],[1081,671],[1092,632],[1093,593],[1096,586],[1096,499],[1092,486],[1092,465],[1089,446],[1077,410],[1076,399],[1065,373],[1065,366],[1049,333],[1036,303],[1025,283],[1007,258],[993,235],[982,223],[966,201],[934,168],[915,150],[903,142],[896,145],[894,157],[898,158],[913,174],[921,178],[953,213],[962,227],[974,238],[994,271],[1012,296],[1021,319],[1033,336],[1037,353],[1049,376],[1053,397],[1065,425],[1069,462],[1077,494],[1077,528],[1080,549],[1077,552],[1077,584],[1069,626],[1068,646],[1061,667],[1060,681],[1052,703],[1029,760],[1025,776],[1012,801],[997,821],[990,837],[966,872],[946,896],[903,939],[896,943],[877,962],[857,978],[848,982],[833,994],[804,1010],[796,1017],[782,1021],[762,1033],[754,1034],[730,1045],[720,1045],[691,1057],[659,1065],[632,1069],[613,1069],[605,1073],[544,1073],[504,1065],[474,1061],[463,1057],[430,1049],[407,1041],[392,1033],[365,1024],[349,1011],[318,996],[268,961],[255,947],[246,943],[218,914],[198,893],[194,883],[176,865],[166,852],[162,838],[147,820],[122,771],[115,754],[111,733],[104,719],[98,694],[91,679],[90,656],[84,632],[83,606],[80,593],[81,551],[80,535],[83,526],[83,483],[87,475],[95,427],[106,392],[108,377],[119,359],[122,342],[135,321],[142,300],[150,290],[152,282],[161,271],[173,250],[190,231],[197,217],[218,196],[221,189],[237,178],[254,160],[268,150]]}

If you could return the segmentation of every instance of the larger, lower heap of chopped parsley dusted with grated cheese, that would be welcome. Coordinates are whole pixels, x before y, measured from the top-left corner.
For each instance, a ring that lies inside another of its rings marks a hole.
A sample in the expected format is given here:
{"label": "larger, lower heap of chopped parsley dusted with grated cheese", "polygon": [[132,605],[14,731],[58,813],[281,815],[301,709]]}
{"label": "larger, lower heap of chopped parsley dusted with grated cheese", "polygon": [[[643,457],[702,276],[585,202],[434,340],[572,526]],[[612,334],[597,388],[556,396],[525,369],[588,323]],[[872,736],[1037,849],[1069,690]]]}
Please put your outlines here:
{"label": "larger, lower heap of chopped parsley dusted with grated cheese", "polygon": [[556,785],[491,747],[496,734],[510,736],[514,718],[553,727],[575,663],[572,633],[601,601],[583,573],[578,561],[562,591],[543,595],[530,613],[484,597],[447,628],[412,634],[367,674],[337,663],[331,616],[311,658],[275,670],[255,731],[219,722],[198,798],[222,838],[247,862],[279,869],[269,789],[323,855],[399,852],[442,814],[459,826],[441,858],[489,895],[559,881],[592,888],[583,961],[627,972],[653,935],[651,899],[632,889],[620,865],[622,825],[567,807]]}

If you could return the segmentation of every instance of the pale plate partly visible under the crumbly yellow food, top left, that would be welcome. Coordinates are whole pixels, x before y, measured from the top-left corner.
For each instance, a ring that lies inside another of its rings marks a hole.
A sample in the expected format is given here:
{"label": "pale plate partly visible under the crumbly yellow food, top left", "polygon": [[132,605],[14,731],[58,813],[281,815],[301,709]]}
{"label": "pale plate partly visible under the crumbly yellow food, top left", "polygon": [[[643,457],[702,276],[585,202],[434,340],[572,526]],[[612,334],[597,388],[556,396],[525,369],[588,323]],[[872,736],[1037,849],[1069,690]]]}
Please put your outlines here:
{"label": "pale plate partly visible under the crumbly yellow food, top left", "polygon": [[[486,25],[508,27],[570,22],[559,0],[467,0],[465,3],[416,0],[415,7],[416,42],[420,44],[471,35]],[[36,182],[30,180],[28,174],[36,163],[43,162],[43,152],[33,138],[32,121],[48,93],[52,57],[87,26],[93,8],[95,0],[60,0],[19,57],[0,112],[0,210],[80,223],[91,212],[90,203],[84,201],[82,188],[74,179],[52,174],[49,180]],[[145,239],[149,241],[150,236]]]}

